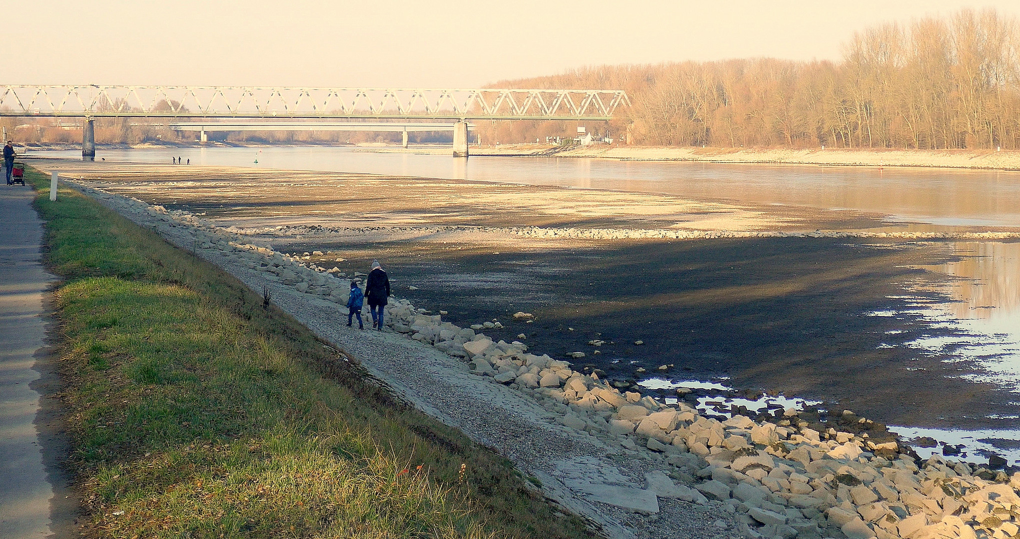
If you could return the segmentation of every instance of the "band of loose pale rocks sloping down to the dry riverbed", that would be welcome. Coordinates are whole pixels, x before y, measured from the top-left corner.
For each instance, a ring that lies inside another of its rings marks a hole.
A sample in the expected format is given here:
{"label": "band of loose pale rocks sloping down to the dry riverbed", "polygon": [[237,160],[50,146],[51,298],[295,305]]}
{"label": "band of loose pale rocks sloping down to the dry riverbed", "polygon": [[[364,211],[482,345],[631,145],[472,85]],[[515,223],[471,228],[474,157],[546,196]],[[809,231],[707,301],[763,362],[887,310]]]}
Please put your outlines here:
{"label": "band of loose pale rocks sloping down to the dry riverbed", "polygon": [[[187,212],[134,202],[125,211],[144,215],[157,231],[187,234],[205,258],[259,271],[298,293],[347,302],[348,281],[336,270],[247,244]],[[641,514],[657,513],[659,498],[723,507],[751,537],[1006,539],[1020,533],[1020,473],[1011,478],[938,455],[919,461],[895,439],[872,436],[870,422],[850,412],[827,428],[793,409],[769,421],[738,415],[720,420],[682,400],[666,405],[621,392],[597,373],[530,353],[521,341],[494,341],[480,332],[483,325],[462,328],[407,300],[395,300],[387,314],[393,331],[530,396],[577,436],[668,470],[646,473],[644,488],[624,488],[611,471],[596,477],[576,472],[585,466],[580,461],[558,465],[565,484],[589,499]]]}

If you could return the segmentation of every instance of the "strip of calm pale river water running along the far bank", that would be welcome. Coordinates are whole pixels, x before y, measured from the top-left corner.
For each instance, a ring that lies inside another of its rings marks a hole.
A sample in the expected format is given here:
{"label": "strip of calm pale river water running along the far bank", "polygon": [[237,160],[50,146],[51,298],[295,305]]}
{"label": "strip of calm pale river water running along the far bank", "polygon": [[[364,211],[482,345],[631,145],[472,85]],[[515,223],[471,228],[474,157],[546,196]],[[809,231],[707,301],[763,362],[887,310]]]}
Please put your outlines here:
{"label": "strip of calm pale river water running along the far bank", "polygon": [[[80,152],[37,151],[76,158]],[[351,147],[101,150],[101,158],[193,165],[364,172],[683,197],[875,213],[941,226],[1020,227],[1020,172],[814,165],[743,165],[596,158],[472,157],[377,153]]]}

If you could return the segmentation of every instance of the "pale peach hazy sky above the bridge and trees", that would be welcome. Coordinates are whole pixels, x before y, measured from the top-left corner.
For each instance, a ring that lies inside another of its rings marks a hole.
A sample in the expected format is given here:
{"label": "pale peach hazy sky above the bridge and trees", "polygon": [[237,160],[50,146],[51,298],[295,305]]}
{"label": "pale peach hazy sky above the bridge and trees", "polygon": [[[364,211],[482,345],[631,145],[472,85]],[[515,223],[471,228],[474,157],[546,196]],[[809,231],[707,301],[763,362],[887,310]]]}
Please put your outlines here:
{"label": "pale peach hazy sky above the bridge and trees", "polygon": [[855,31],[1017,0],[0,0],[4,84],[473,88],[603,63],[837,59]]}

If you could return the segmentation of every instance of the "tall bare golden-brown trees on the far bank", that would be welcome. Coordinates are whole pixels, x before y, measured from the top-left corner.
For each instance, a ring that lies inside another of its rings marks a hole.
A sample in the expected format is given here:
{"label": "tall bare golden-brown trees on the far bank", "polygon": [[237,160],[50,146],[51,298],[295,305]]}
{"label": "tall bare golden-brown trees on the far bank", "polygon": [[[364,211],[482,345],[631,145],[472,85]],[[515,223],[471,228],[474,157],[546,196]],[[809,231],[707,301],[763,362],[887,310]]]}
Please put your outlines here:
{"label": "tall bare golden-brown trees on the far bank", "polygon": [[[1020,29],[993,9],[856,33],[840,61],[774,58],[603,65],[492,87],[623,89],[610,122],[632,144],[906,149],[1020,148]],[[482,122],[530,142],[564,122]]]}

